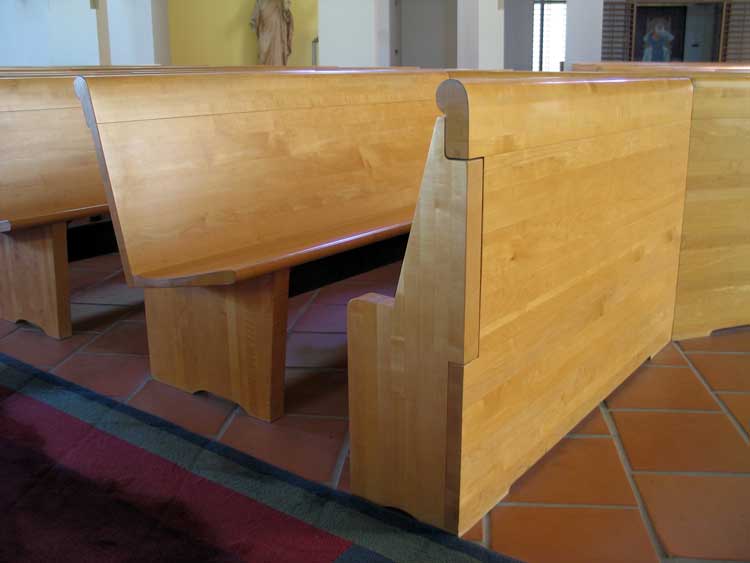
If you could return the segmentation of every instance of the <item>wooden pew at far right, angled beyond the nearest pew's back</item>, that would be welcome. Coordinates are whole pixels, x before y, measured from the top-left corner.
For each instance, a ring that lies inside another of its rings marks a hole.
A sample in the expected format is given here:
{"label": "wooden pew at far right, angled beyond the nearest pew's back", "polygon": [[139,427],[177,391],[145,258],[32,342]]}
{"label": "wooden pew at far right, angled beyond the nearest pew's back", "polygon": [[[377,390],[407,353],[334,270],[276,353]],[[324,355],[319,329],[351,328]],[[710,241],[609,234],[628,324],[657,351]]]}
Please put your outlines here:
{"label": "wooden pew at far right, angled beyond the nearest pew's back", "polygon": [[[576,68],[590,65],[576,65]],[[689,76],[694,85],[674,338],[750,324],[750,66],[599,63],[606,72]]]}

